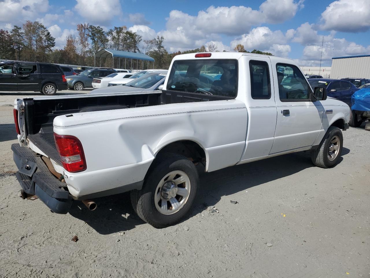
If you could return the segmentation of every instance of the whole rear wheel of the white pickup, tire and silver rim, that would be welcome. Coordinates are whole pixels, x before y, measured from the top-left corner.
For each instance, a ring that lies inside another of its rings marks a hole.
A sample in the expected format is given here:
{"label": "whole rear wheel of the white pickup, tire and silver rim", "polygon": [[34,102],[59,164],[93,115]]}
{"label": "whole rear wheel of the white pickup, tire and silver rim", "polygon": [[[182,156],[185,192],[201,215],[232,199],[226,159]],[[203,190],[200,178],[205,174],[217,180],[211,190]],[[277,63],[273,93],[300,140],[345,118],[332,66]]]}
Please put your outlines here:
{"label": "whole rear wheel of the white pickup, tire and silver rim", "polygon": [[191,209],[199,176],[185,156],[168,154],[157,159],[142,190],[131,191],[131,203],[142,220],[165,228],[178,223]]}

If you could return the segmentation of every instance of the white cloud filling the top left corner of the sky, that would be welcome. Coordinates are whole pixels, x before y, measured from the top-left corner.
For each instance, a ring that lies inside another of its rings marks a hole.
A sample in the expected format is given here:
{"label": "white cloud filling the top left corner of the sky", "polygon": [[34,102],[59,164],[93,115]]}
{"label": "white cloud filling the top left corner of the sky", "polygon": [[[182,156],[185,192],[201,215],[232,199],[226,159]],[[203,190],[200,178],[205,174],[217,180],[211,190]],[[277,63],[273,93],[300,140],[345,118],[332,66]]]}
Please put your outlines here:
{"label": "white cloud filling the top left corner of the sky", "polygon": [[0,22],[21,24],[34,20],[49,8],[48,0],[2,0]]}

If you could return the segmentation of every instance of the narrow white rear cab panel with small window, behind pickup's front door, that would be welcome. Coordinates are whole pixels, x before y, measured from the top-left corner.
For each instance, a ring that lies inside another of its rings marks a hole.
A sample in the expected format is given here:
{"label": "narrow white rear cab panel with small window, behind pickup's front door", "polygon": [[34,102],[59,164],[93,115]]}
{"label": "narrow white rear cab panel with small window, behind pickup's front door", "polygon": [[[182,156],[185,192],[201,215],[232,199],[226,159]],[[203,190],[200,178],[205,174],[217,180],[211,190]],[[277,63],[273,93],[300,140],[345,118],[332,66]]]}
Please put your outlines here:
{"label": "narrow white rear cab panel with small window, behind pickup's front door", "polygon": [[[274,142],[277,117],[270,58],[243,56],[243,59],[244,71],[240,71],[239,79],[248,80],[245,84],[248,131],[242,163],[269,155]],[[240,76],[242,73],[246,76]]]}

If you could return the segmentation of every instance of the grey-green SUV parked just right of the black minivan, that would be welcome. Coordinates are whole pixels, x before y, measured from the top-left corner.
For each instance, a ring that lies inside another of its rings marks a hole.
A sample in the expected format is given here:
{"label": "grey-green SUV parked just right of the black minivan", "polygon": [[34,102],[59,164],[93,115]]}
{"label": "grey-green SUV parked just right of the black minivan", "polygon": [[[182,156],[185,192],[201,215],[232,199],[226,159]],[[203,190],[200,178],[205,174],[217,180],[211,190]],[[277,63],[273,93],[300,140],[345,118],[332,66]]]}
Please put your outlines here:
{"label": "grey-green SUV parked just right of the black minivan", "polygon": [[114,72],[117,71],[107,67],[93,67],[91,69],[84,70],[79,75],[66,77],[68,88],[76,91],[81,91],[84,88],[92,88],[92,79],[96,77],[105,77]]}

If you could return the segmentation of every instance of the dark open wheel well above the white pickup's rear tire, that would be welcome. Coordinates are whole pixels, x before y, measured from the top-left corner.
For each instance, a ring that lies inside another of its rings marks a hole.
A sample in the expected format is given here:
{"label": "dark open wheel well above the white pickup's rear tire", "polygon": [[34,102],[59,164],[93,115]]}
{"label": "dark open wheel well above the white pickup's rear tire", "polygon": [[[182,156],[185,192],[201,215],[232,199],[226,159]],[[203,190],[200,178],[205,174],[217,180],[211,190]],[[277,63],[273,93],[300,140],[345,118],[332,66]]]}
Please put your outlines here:
{"label": "dark open wheel well above the white pickup's rear tire", "polygon": [[186,158],[196,163],[202,163],[206,165],[206,154],[204,149],[196,142],[191,140],[181,140],[170,143],[164,146],[157,156],[162,155],[163,153],[177,153],[178,155],[184,155]]}

